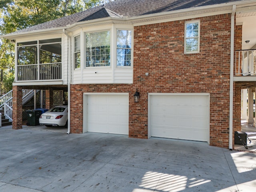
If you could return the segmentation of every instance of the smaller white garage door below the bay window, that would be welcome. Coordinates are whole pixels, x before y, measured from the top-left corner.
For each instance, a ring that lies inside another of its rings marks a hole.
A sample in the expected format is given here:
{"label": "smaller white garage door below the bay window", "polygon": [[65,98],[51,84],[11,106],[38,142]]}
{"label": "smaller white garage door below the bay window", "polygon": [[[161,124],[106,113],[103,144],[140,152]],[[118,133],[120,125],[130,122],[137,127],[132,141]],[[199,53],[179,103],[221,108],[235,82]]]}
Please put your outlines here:
{"label": "smaller white garage door below the bay window", "polygon": [[88,95],[88,132],[128,135],[129,96]]}

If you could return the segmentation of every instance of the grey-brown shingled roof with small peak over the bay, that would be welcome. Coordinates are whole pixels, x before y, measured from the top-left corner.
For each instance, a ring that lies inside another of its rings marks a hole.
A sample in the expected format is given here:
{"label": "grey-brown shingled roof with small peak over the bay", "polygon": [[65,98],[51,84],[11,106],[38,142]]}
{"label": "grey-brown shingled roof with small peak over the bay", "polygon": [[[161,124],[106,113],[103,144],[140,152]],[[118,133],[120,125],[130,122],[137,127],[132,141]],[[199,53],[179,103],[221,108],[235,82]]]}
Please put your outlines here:
{"label": "grey-brown shingled roof with small peak over the bay", "polygon": [[12,34],[65,27],[77,22],[100,18],[131,18],[154,13],[170,12],[237,1],[239,0],[116,0],[105,5],[72,14],[70,16],[65,16],[56,20],[22,29]]}

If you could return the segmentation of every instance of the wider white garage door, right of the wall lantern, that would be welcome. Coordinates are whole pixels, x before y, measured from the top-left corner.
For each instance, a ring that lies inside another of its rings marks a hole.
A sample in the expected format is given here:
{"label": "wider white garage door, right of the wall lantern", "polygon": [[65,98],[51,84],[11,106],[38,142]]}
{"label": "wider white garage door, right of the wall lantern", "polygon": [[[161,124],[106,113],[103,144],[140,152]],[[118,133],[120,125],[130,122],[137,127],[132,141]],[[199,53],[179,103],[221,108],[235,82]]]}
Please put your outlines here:
{"label": "wider white garage door, right of the wall lantern", "polygon": [[209,95],[151,95],[151,136],[209,140]]}

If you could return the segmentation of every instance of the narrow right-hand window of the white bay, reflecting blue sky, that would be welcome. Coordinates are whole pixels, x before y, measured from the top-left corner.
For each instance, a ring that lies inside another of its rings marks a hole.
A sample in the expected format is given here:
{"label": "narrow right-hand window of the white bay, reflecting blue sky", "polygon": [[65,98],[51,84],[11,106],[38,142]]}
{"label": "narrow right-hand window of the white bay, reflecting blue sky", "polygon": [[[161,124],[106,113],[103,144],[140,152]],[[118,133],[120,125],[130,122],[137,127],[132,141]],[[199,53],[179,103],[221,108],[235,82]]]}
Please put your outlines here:
{"label": "narrow right-hand window of the white bay, reflecting blue sky", "polygon": [[117,30],[116,33],[116,65],[131,66],[132,31]]}

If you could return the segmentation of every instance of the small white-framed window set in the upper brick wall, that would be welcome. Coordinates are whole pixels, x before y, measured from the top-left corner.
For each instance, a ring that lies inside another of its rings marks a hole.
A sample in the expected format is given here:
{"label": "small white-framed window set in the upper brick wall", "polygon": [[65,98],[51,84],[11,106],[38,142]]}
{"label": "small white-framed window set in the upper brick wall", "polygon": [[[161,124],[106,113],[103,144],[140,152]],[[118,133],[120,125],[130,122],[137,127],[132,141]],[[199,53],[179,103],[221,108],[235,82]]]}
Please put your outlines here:
{"label": "small white-framed window set in the upper brick wall", "polygon": [[199,53],[200,20],[185,22],[184,53]]}

